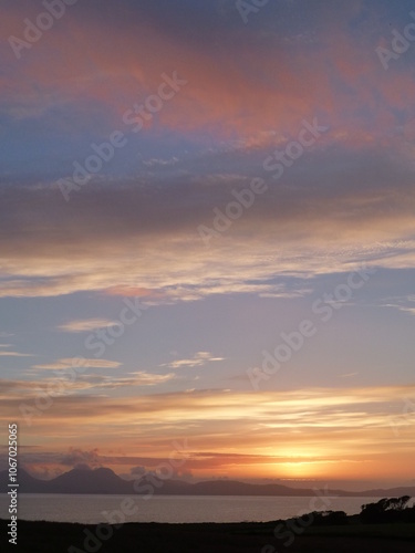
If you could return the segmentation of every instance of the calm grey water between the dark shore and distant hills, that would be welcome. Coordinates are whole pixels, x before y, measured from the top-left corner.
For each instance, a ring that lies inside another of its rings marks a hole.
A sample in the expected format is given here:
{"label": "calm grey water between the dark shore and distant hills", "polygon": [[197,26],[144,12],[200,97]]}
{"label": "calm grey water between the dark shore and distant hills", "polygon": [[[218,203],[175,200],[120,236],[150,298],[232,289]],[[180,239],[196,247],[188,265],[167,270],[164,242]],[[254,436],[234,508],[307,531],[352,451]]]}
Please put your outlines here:
{"label": "calm grey water between the dark shore and distant hills", "polygon": [[[144,500],[138,495],[71,495],[21,493],[18,495],[20,520],[46,520],[97,524],[106,522],[103,511],[118,510],[125,498],[131,498],[136,513],[126,522],[242,522],[270,521],[301,515],[313,510],[345,511],[355,514],[363,503],[378,498],[325,498],[324,508],[313,498],[154,495]],[[0,495],[0,518],[9,519],[9,499]]]}

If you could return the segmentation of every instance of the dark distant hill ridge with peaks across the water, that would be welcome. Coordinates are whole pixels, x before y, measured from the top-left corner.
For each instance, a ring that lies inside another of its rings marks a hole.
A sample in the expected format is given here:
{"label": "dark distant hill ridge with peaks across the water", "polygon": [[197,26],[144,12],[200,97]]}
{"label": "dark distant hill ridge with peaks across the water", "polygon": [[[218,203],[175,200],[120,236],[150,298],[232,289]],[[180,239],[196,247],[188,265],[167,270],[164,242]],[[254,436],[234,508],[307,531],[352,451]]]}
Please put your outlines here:
{"label": "dark distant hill ridge with peaks across the water", "polygon": [[[153,480],[147,477],[139,482],[139,488],[134,490],[134,481],[120,478],[111,469],[73,469],[52,480],[39,480],[31,477],[25,470],[18,472],[20,493],[103,493],[103,494],[137,494],[148,493],[160,495],[274,495],[274,497],[312,497],[312,489],[293,489],[281,484],[256,484],[238,482],[235,480],[208,480],[189,483],[181,480]],[[156,482],[158,486],[155,486]],[[0,487],[3,492],[8,489],[8,471],[0,472]],[[390,490],[366,490],[347,492],[330,490],[325,492],[331,497],[402,497],[415,495],[415,487],[393,488]]]}

